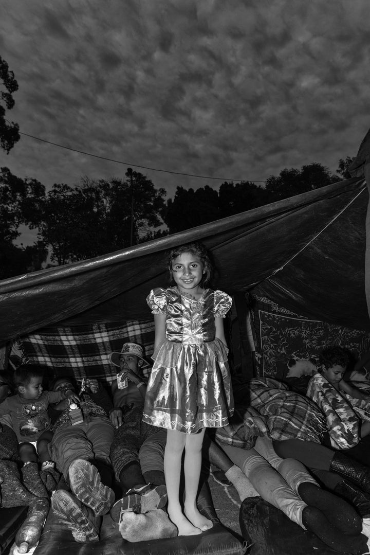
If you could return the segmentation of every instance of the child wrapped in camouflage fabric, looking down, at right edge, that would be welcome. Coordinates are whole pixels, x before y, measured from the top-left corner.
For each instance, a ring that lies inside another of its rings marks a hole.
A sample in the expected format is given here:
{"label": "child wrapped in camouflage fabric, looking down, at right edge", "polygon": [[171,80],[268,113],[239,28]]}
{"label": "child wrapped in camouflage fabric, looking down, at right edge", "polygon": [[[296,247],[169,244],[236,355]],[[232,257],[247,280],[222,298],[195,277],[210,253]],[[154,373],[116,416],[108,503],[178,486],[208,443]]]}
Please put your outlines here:
{"label": "child wrapped in camouflage fabric, looking down, at right edge", "polygon": [[332,346],[320,354],[321,372],[308,384],[307,396],[326,416],[331,446],[351,448],[370,433],[370,396],[343,380],[349,354]]}

